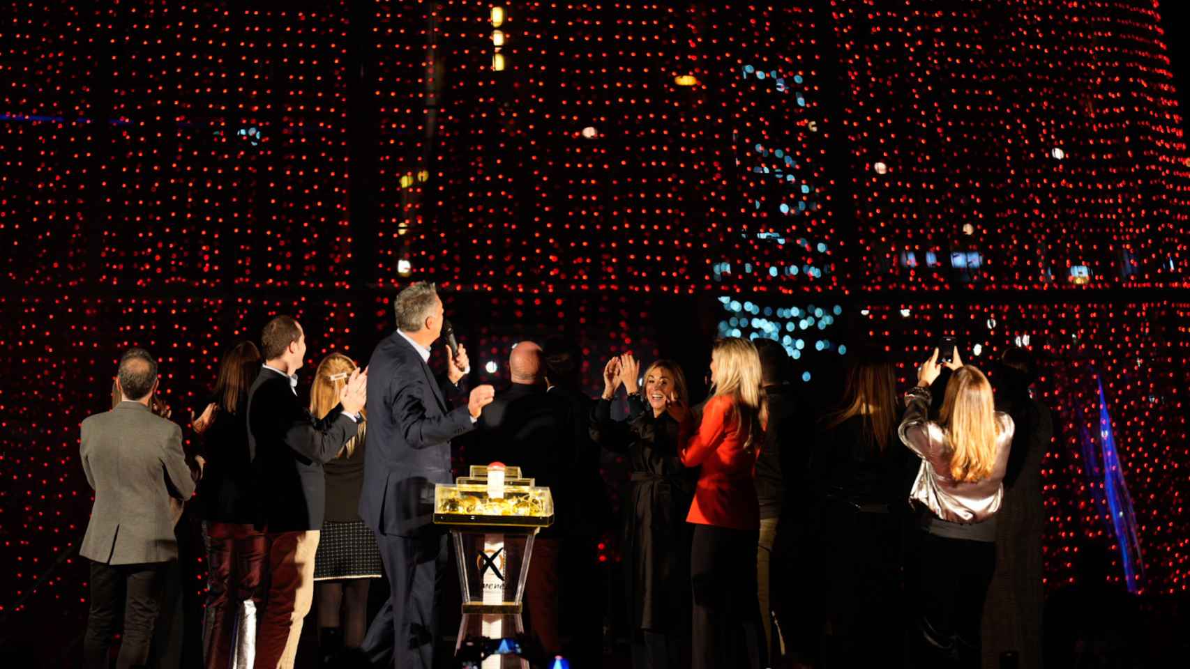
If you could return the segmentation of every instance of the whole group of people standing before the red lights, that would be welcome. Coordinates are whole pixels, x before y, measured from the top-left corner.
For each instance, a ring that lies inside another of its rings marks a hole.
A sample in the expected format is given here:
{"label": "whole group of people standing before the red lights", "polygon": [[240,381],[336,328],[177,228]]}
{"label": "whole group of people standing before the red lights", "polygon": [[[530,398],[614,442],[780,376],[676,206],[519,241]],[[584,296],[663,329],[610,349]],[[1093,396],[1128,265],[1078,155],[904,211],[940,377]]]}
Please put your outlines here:
{"label": "whole group of people standing before the red lights", "polygon": [[[367,366],[327,355],[308,400],[305,330],[273,318],[259,346],[220,360],[187,421],[190,454],[156,393],[156,361],[127,351],[112,409],[81,429],[95,491],[80,548],[86,667],[109,667],[117,633],[119,669],[154,664],[183,504],[202,519],[208,669],[294,667],[315,601],[322,665],[449,665],[436,654],[453,568],[432,506],[434,484],[453,481],[452,454],[519,465],[551,488],[526,652],[600,667],[603,452],[630,468],[616,581],[637,669],[1040,665],[1052,429],[1027,352],[1003,355],[994,392],[957,348],[935,349],[898,395],[888,353],[857,346],[843,400],[822,412],[764,339],[718,340],[699,404],[679,365],[641,373],[631,353],[601,362],[603,392],[590,398],[580,352],[558,340],[515,345],[507,387],[469,389],[465,346],[451,340],[445,370],[430,366],[444,316],[432,284],[409,285]],[[377,579],[389,594],[369,624]]]}

